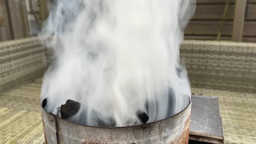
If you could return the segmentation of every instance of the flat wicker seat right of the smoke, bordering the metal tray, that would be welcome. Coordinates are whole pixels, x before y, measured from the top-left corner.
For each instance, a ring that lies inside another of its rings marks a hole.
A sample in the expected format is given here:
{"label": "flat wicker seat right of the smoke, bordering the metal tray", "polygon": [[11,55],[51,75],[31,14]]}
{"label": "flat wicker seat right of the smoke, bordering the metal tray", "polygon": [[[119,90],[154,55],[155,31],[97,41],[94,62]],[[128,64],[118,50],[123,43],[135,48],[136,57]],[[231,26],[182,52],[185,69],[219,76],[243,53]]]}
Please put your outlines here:
{"label": "flat wicker seat right of the smoke, bordering the metal tray", "polygon": [[218,96],[226,144],[256,143],[256,94],[206,88],[191,88],[191,91]]}

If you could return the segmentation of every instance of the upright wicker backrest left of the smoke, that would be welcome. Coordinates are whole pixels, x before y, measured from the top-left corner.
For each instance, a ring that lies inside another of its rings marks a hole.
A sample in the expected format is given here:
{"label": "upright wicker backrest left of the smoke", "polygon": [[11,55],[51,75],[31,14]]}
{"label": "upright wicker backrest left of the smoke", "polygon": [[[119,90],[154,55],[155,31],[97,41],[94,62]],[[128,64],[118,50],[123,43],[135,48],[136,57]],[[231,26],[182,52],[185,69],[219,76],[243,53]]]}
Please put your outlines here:
{"label": "upright wicker backrest left of the smoke", "polygon": [[0,43],[0,93],[42,77],[45,49],[37,38]]}

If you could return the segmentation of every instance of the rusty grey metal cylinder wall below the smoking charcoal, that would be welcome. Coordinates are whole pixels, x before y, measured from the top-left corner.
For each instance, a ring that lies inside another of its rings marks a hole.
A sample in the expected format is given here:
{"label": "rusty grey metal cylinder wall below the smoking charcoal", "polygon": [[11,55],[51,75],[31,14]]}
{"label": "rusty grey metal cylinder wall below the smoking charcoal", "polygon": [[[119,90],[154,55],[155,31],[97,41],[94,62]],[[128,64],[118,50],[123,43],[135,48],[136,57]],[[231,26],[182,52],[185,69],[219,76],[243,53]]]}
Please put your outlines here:
{"label": "rusty grey metal cylinder wall below the smoking charcoal", "polygon": [[191,102],[169,118],[144,125],[100,128],[78,125],[47,113],[41,107],[48,144],[187,144]]}

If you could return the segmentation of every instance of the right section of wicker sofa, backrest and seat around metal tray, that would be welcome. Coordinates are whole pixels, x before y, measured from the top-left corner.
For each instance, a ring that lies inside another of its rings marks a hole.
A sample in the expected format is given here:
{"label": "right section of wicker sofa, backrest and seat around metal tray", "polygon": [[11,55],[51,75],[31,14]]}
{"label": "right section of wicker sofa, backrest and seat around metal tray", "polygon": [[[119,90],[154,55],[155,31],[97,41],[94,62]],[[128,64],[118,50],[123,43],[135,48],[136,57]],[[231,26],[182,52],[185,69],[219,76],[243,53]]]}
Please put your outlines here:
{"label": "right section of wicker sofa, backrest and seat around metal tray", "polygon": [[192,93],[218,96],[226,143],[256,143],[256,44],[185,41],[180,53]]}

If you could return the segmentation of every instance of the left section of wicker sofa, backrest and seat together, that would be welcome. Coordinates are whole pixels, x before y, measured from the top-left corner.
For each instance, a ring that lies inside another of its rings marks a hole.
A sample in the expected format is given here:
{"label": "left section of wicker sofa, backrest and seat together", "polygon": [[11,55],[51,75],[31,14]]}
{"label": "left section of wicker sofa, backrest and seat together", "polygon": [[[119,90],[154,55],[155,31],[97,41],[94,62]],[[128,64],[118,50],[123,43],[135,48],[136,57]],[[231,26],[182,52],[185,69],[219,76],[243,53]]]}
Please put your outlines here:
{"label": "left section of wicker sofa, backrest and seat together", "polygon": [[37,38],[0,43],[0,143],[44,143],[39,95],[45,49]]}

